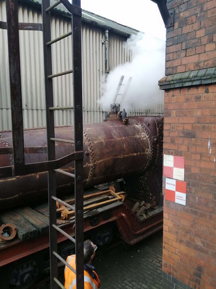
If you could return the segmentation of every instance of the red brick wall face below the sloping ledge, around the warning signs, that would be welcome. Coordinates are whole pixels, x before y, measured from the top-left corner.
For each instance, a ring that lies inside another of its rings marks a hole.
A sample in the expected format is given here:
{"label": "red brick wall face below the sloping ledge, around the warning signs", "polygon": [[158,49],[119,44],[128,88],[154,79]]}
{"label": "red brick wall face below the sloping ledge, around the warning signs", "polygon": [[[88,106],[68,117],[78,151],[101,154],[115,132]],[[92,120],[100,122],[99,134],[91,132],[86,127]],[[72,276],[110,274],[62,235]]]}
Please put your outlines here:
{"label": "red brick wall face below the sloping ledge, around the warning signs", "polygon": [[196,289],[216,288],[215,149],[216,84],[166,90],[164,154],[185,157],[187,194],[164,201],[163,271]]}

